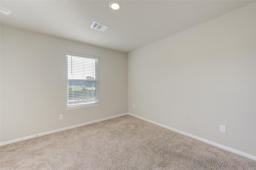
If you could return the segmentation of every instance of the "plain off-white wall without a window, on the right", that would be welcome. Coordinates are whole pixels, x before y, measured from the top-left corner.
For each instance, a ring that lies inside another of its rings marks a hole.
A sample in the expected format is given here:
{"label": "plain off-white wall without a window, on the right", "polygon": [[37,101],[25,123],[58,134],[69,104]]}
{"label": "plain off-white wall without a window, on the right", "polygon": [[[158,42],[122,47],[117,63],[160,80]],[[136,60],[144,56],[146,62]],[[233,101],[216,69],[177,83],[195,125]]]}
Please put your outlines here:
{"label": "plain off-white wall without a window, on the right", "polygon": [[255,16],[254,2],[128,53],[128,112],[256,155]]}

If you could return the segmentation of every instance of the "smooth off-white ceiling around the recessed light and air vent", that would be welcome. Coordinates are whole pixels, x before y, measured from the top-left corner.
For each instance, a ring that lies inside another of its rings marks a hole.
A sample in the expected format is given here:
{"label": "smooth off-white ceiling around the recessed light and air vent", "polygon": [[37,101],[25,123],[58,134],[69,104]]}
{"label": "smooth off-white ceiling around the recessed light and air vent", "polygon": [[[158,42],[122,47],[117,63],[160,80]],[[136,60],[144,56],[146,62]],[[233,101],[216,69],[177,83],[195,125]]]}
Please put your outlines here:
{"label": "smooth off-white ceiling around the recessed light and air vent", "polygon": [[[12,12],[1,24],[128,53],[254,1],[246,0],[110,0],[0,1]],[[102,32],[94,21],[108,25]]]}

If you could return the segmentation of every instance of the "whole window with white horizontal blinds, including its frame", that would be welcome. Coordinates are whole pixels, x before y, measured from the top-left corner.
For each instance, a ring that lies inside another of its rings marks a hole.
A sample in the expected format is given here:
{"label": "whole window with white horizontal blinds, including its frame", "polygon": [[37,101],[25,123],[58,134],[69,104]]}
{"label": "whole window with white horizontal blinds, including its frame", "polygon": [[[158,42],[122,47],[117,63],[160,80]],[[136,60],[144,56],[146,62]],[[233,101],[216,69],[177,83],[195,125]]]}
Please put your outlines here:
{"label": "whole window with white horizontal blinds, including its frame", "polygon": [[67,109],[75,106],[98,106],[99,57],[66,53]]}

